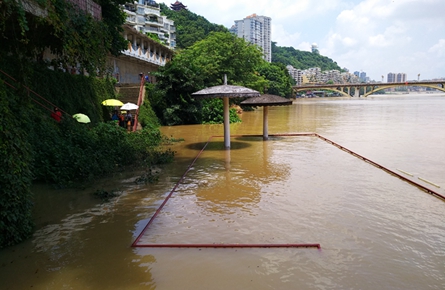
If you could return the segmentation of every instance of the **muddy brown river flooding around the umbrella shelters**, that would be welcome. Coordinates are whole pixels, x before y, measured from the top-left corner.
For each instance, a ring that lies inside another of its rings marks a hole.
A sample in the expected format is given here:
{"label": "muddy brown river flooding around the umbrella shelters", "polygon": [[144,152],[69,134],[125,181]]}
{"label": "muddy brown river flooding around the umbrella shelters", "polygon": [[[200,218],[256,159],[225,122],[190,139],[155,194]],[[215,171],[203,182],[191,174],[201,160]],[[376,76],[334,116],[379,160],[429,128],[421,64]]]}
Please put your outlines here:
{"label": "muddy brown river flooding around the umbrella shelters", "polygon": [[[445,289],[444,200],[320,138],[282,136],[318,133],[445,195],[444,94],[297,99],[269,108],[268,141],[241,136],[262,134],[261,109],[242,120],[230,150],[222,125],[163,127],[185,141],[153,185],[134,172],[36,185],[36,232],[0,250],[0,288]],[[121,195],[100,202],[98,189]],[[139,244],[321,248],[131,247],[170,193]]]}

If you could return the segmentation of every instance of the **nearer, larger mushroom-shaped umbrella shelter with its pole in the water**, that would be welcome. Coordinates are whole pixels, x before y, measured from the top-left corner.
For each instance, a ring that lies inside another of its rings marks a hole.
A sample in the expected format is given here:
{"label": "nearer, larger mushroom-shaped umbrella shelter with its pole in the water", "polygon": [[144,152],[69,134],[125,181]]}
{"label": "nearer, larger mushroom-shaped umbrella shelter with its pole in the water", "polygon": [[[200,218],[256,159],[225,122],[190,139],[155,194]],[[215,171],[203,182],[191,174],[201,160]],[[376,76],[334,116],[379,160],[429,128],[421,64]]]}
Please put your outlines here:
{"label": "nearer, larger mushroom-shaped umbrella shelter with its pole in the water", "polygon": [[258,91],[227,84],[227,77],[224,75],[224,85],[214,86],[197,91],[192,94],[195,98],[222,98],[224,101],[224,147],[230,148],[230,119],[229,119],[229,98],[259,97]]}

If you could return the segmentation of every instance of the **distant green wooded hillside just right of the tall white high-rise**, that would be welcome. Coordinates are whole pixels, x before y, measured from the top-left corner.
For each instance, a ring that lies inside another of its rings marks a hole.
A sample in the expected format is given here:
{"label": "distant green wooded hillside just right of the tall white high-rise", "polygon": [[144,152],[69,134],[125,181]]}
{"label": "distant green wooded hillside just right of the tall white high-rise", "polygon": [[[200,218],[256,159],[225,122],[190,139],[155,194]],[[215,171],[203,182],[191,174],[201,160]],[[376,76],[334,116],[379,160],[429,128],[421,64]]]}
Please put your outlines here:
{"label": "distant green wooded hillside just right of the tall white high-rise", "polygon": [[298,69],[319,67],[322,71],[341,70],[336,62],[326,56],[309,51],[296,50],[293,47],[277,46],[276,42],[272,42],[272,62],[282,63],[285,66],[291,65]]}

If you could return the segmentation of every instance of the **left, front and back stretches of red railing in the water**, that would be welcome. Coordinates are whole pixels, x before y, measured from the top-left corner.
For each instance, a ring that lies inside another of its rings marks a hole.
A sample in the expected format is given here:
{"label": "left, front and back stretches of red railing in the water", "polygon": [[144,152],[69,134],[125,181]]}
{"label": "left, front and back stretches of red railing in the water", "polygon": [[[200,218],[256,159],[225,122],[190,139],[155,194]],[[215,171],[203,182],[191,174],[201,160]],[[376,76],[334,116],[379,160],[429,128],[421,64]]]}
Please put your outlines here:
{"label": "left, front and back stretches of red railing in the water", "polygon": [[[308,135],[308,134],[310,134],[310,135]],[[263,135],[238,135],[238,136],[262,137]],[[314,133],[301,133],[301,134],[297,133],[296,135],[293,135],[293,136],[315,136],[315,135],[314,135]],[[199,151],[198,155],[196,155],[195,159],[193,159],[192,163],[190,163],[190,165],[187,167],[187,170],[184,172],[184,174],[178,180],[176,185],[173,187],[173,189],[170,191],[170,193],[164,199],[164,201],[159,206],[159,208],[156,210],[154,215],[150,218],[147,225],[141,231],[139,236],[134,240],[133,244],[131,244],[131,247],[134,247],[134,248],[137,247],[137,248],[317,248],[317,249],[321,249],[320,244],[138,244],[140,239],[144,235],[144,233],[147,231],[147,229],[153,223],[154,219],[161,212],[164,205],[167,203],[167,201],[170,199],[170,197],[176,191],[176,188],[178,188],[179,184],[182,182],[182,180],[184,180],[185,176],[191,170],[191,168],[195,164],[196,160],[198,160],[198,157],[202,154],[202,152],[204,152],[204,149],[207,147],[210,140],[214,137],[224,137],[224,136],[211,136],[207,140],[204,147],[202,147],[201,151]]]}

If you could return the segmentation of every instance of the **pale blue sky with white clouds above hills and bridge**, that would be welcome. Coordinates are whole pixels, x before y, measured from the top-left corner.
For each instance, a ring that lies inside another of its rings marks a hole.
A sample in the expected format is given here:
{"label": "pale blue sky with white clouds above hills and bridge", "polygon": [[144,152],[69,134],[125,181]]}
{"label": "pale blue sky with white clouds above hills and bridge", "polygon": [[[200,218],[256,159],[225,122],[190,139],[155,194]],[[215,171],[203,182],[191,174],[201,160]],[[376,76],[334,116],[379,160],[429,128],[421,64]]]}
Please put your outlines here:
{"label": "pale blue sky with white clouds above hills and bridge", "polygon": [[[164,2],[170,6],[176,0]],[[350,72],[386,82],[445,77],[445,0],[184,0],[211,23],[230,28],[256,13],[272,18],[272,41],[310,51],[318,45]]]}

